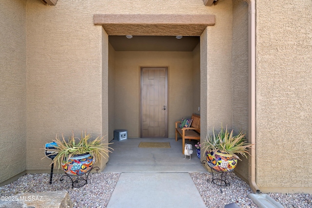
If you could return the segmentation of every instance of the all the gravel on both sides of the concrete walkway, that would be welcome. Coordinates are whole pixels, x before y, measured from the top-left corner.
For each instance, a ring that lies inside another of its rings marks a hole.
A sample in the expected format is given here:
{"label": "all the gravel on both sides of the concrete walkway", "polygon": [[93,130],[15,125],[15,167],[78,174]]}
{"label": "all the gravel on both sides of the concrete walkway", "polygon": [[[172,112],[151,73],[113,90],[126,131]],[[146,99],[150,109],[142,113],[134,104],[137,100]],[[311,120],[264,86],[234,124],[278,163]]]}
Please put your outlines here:
{"label": "all the gravel on both sides of the concrete walkway", "polygon": [[[12,196],[25,192],[67,190],[74,208],[106,208],[120,173],[90,173],[88,184],[74,189],[71,188],[69,179],[63,182],[59,181],[62,175],[54,174],[53,183],[50,185],[50,174],[26,174],[11,184],[0,187],[0,195]],[[211,183],[211,173],[193,172],[190,175],[207,208],[224,208],[224,205],[230,203],[235,203],[240,208],[257,208],[248,197],[249,193],[253,193],[252,189],[235,173],[227,174],[227,181],[230,182],[230,186],[223,187],[222,192],[219,186]],[[218,176],[219,173],[216,173],[216,177]],[[285,208],[312,208],[311,194],[269,193],[268,195]]]}

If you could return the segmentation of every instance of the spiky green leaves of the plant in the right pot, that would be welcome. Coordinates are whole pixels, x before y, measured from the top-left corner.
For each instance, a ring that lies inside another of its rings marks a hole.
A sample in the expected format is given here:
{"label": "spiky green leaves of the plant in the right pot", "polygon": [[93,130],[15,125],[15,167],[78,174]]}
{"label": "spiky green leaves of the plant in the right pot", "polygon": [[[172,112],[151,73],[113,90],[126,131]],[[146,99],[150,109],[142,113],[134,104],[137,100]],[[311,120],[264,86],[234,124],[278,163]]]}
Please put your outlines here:
{"label": "spiky green leaves of the plant in the right pot", "polygon": [[252,148],[254,144],[247,143],[245,134],[240,131],[237,135],[233,135],[233,130],[229,132],[228,126],[224,130],[221,125],[221,131],[215,133],[215,128],[213,128],[213,134],[205,138],[205,141],[202,143],[203,150],[213,152],[220,151],[222,153],[231,154],[237,159],[241,160],[237,154],[241,154],[247,158],[249,153],[249,148]]}

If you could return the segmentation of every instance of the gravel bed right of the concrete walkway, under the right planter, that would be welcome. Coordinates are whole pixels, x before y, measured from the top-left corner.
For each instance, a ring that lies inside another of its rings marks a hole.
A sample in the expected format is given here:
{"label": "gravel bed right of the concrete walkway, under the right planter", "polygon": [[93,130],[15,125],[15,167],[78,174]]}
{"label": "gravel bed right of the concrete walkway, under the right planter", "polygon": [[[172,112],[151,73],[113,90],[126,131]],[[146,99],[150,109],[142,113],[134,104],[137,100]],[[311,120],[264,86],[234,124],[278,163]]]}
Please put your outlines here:
{"label": "gravel bed right of the concrete walkway, under the right planter", "polygon": [[[227,181],[230,186],[220,187],[211,183],[212,174],[209,172],[190,173],[196,188],[198,189],[207,208],[224,208],[224,205],[235,203],[240,208],[257,208],[254,202],[248,197],[249,193],[254,193],[249,185],[240,179],[235,173],[227,173]],[[214,176],[215,177],[215,176]],[[220,173],[216,173],[216,177]],[[207,182],[208,180],[208,182]],[[282,194],[268,193],[275,201],[284,208],[312,208],[312,195],[304,193]]]}

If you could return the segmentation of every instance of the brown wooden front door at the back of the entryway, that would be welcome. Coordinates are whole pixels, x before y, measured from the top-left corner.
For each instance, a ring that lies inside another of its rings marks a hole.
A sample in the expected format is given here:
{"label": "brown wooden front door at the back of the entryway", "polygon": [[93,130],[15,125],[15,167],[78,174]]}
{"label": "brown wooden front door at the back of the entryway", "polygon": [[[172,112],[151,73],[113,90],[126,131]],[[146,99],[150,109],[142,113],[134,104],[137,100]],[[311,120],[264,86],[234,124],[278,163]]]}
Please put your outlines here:
{"label": "brown wooden front door at the back of the entryway", "polygon": [[168,137],[167,67],[141,67],[141,137]]}

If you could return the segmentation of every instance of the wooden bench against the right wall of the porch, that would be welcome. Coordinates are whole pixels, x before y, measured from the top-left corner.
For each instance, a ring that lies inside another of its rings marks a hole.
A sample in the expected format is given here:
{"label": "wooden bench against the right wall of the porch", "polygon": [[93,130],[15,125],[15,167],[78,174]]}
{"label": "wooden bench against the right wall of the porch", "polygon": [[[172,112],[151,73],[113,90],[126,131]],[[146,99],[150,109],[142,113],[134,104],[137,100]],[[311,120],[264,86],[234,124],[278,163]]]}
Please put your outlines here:
{"label": "wooden bench against the right wall of the porch", "polygon": [[180,134],[182,138],[182,153],[184,154],[184,146],[185,146],[185,139],[195,139],[200,140],[200,115],[192,114],[191,119],[193,119],[191,123],[191,127],[189,128],[179,128],[179,123],[181,121],[176,121],[176,141],[177,141],[177,134]]}

